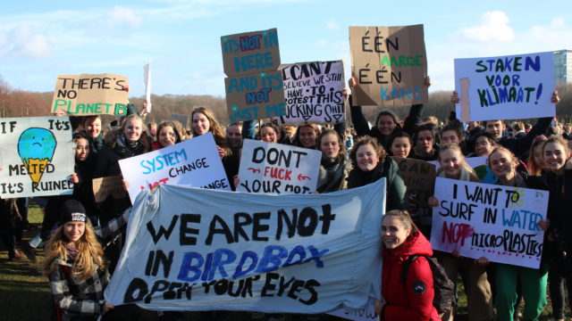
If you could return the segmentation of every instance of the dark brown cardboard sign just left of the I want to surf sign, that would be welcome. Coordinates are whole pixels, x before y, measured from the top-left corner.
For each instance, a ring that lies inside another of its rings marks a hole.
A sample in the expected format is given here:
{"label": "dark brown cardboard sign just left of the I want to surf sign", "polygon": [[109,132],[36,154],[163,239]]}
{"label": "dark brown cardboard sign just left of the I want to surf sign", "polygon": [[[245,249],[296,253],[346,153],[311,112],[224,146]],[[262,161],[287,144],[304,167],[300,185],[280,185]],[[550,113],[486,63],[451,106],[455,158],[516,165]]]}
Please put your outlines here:
{"label": "dark brown cardboard sign just left of the I want to surf sign", "polygon": [[433,196],[435,184],[435,165],[427,161],[394,157],[393,160],[400,167],[400,174],[408,187],[409,203],[417,207],[427,207],[427,200]]}

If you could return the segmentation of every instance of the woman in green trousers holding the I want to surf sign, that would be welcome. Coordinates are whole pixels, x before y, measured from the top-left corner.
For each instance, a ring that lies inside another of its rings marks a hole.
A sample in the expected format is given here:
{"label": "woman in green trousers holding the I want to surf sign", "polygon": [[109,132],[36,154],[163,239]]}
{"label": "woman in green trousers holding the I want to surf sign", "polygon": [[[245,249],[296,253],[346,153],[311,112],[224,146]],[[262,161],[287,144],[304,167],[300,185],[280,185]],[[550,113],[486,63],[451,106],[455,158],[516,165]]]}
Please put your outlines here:
{"label": "woman in green trousers holding the I want to surf sign", "polygon": [[[504,147],[496,147],[487,161],[492,173],[499,177],[499,185],[524,188],[546,189],[538,177],[523,177],[518,174],[517,157]],[[538,226],[546,231],[547,220],[538,221]],[[546,244],[546,243],[544,243]],[[537,320],[546,305],[547,265],[546,252],[543,253],[540,270],[495,263],[496,298],[494,300],[499,320],[512,320],[517,302],[517,281],[522,280],[522,296],[525,299],[525,320]]]}

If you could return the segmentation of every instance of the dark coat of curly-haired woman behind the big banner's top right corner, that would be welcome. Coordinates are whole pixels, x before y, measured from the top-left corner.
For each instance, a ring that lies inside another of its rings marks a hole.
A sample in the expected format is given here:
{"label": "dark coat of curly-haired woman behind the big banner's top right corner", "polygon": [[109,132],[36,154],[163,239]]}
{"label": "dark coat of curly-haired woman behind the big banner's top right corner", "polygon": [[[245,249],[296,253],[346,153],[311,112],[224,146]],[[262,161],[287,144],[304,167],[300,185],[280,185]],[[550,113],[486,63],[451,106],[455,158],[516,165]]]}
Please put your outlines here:
{"label": "dark coat of curly-haired woman behind the big banner's top right corner", "polygon": [[348,188],[360,187],[370,183],[374,183],[378,179],[385,177],[385,211],[388,210],[407,210],[408,201],[405,197],[407,187],[400,175],[400,168],[397,163],[389,156],[384,161],[380,161],[375,169],[365,172],[358,167],[349,172]]}

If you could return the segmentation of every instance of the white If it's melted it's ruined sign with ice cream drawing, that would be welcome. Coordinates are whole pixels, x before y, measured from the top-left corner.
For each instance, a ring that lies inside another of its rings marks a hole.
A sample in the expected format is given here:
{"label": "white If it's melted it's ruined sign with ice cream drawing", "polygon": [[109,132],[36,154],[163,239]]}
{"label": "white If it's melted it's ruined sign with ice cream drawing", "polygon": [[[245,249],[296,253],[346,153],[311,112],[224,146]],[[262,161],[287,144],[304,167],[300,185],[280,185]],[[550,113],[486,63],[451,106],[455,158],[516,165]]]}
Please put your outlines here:
{"label": "white If it's melted it's ruined sign with ice cream drawing", "polygon": [[0,119],[0,197],[71,194],[73,155],[67,117]]}

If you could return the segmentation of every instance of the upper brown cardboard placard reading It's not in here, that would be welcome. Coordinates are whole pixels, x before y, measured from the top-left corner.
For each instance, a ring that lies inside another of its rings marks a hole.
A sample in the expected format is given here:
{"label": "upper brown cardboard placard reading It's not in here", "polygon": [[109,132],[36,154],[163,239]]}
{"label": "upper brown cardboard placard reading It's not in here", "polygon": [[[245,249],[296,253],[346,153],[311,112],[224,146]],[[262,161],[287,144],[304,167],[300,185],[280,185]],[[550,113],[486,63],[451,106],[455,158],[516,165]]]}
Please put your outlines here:
{"label": "upper brown cardboard placard reading It's not in here", "polygon": [[277,29],[221,37],[224,73],[228,77],[278,70],[280,51]]}

